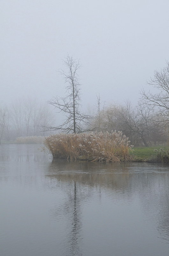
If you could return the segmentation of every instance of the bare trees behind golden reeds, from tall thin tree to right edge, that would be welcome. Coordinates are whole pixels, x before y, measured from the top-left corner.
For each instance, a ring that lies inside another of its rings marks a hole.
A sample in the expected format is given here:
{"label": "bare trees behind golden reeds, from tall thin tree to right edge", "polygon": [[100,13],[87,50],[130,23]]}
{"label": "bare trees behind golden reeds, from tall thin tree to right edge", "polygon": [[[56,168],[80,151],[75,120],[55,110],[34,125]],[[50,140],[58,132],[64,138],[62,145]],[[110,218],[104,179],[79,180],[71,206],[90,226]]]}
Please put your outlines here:
{"label": "bare trees behind golden reeds, from tall thin tree to right edge", "polygon": [[63,60],[65,70],[59,73],[66,83],[66,96],[53,97],[48,103],[62,112],[66,119],[59,126],[46,126],[47,131],[59,130],[66,133],[89,131],[122,131],[133,145],[166,144],[169,126],[169,63],[154,72],[147,84],[157,89],[156,94],[142,89],[137,106],[130,101],[122,105],[101,104],[100,94],[96,94],[96,113],[91,116],[81,112],[78,70],[79,60],[67,55]]}

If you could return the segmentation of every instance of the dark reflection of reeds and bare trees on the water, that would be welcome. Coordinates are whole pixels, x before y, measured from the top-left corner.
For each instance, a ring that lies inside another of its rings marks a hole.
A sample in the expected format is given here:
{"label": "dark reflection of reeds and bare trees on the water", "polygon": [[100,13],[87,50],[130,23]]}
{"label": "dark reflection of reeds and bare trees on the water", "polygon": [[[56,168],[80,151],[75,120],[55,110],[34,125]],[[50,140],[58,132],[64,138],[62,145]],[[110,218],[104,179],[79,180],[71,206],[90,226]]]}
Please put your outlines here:
{"label": "dark reflection of reeds and bare trees on the water", "polygon": [[[46,175],[48,178],[61,184],[64,183],[67,188],[70,184],[74,184],[74,197],[69,195],[67,202],[67,204],[73,205],[70,239],[72,255],[78,255],[77,251],[79,250],[80,205],[83,204],[83,200],[92,196],[93,188],[97,188],[100,200],[102,200],[101,193],[106,190],[113,192],[109,195],[112,195],[114,199],[123,198],[130,203],[134,201],[135,197],[138,197],[147,217],[154,221],[160,238],[169,241],[168,167],[147,163],[141,163],[138,166],[138,163],[132,163],[132,165],[130,163],[69,163],[62,160],[53,161],[50,164]],[[85,187],[83,195],[77,193],[77,184],[79,191]],[[157,190],[154,189],[155,186],[157,186]],[[154,208],[156,208],[156,212],[154,212]]]}

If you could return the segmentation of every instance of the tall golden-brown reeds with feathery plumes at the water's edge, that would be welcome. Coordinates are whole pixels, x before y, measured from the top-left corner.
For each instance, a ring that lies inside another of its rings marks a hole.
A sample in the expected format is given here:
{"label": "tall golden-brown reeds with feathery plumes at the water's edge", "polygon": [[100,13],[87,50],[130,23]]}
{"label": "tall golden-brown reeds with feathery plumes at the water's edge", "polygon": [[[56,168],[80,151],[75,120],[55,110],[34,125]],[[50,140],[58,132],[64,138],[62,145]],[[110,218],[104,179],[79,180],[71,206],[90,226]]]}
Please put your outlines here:
{"label": "tall golden-brown reeds with feathery plumes at the water's edge", "polygon": [[46,137],[42,149],[53,159],[88,160],[99,162],[131,161],[131,147],[122,132],[94,134],[56,134]]}

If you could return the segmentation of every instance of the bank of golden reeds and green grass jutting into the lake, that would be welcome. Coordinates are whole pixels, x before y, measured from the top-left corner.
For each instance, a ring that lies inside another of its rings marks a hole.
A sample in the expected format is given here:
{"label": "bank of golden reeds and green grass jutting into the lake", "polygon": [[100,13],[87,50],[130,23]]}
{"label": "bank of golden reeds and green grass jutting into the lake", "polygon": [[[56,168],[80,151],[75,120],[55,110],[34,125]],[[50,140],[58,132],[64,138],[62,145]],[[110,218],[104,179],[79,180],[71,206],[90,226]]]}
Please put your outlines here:
{"label": "bank of golden reeds and green grass jutting into the lake", "polygon": [[98,162],[169,163],[169,146],[136,147],[122,132],[95,134],[56,134],[46,137],[43,151],[53,159]]}

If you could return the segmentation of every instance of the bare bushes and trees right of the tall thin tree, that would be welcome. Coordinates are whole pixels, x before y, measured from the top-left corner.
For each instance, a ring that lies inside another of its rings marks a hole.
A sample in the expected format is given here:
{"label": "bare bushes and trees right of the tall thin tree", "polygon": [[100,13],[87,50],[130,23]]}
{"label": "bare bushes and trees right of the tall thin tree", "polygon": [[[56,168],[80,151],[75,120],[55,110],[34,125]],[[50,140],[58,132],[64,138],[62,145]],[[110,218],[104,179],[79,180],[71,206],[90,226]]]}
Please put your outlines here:
{"label": "bare bushes and trees right of the tall thin tree", "polygon": [[166,144],[169,135],[169,62],[154,76],[147,85],[157,89],[155,94],[142,89],[137,106],[130,101],[123,105],[102,106],[100,95],[97,97],[97,114],[93,128],[99,131],[120,130],[133,145]]}

